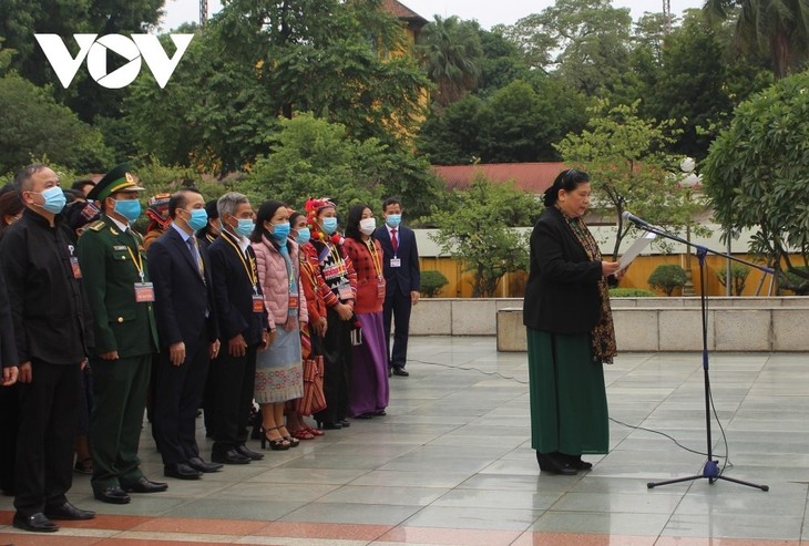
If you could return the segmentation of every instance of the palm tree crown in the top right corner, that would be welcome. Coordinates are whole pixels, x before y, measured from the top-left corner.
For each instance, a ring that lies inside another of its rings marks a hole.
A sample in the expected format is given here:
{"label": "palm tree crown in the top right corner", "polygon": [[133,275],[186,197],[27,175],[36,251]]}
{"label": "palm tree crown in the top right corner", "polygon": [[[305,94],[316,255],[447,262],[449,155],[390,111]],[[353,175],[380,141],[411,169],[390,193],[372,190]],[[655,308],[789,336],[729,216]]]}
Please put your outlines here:
{"label": "palm tree crown in the top right corner", "polygon": [[809,59],[809,1],[705,1],[705,11],[721,19],[734,8],[740,8],[736,22],[740,47],[769,56],[776,78],[785,78]]}

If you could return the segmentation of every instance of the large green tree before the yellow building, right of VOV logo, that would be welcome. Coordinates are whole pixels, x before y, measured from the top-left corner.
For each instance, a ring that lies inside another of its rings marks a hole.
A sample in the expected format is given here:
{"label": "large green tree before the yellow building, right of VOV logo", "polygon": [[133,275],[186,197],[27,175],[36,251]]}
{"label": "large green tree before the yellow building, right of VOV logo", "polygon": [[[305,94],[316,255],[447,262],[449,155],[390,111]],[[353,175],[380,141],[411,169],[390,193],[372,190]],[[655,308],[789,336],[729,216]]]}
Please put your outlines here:
{"label": "large green tree before the yellow building, right of VOV logo", "polygon": [[232,0],[209,27],[221,48],[255,69],[270,106],[265,119],[314,112],[348,134],[408,138],[423,116],[429,81],[381,0]]}

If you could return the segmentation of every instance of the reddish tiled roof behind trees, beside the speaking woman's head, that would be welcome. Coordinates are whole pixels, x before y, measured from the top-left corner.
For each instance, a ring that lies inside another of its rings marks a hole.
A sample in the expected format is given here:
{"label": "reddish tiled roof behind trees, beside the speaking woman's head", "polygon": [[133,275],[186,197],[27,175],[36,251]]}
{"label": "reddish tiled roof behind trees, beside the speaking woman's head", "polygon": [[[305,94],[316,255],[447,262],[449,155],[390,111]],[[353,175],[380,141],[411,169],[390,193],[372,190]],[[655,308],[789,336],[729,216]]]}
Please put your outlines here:
{"label": "reddish tiled roof behind trees, beside the speaking woman's head", "polygon": [[512,181],[514,187],[533,195],[540,195],[551,187],[556,175],[565,168],[561,162],[432,166],[436,174],[446,181],[449,189],[468,188],[475,173],[480,172],[494,182]]}

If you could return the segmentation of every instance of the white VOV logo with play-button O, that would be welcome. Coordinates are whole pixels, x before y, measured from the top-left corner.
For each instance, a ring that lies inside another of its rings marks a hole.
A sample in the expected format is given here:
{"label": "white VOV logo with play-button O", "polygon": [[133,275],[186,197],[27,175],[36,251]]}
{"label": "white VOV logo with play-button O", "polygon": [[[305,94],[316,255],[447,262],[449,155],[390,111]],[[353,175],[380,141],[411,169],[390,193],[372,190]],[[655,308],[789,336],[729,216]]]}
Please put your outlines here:
{"label": "white VOV logo with play-button O", "polygon": [[[34,38],[64,89],[71,84],[85,58],[90,76],[106,89],[125,87],[135,81],[141,73],[141,59],[146,61],[146,66],[152,71],[157,85],[163,89],[168,83],[168,79],[177,68],[185,50],[188,49],[191,39],[194,38],[194,34],[170,34],[172,42],[177,48],[174,56],[170,58],[154,34],[132,34],[131,39],[121,34],[105,34],[96,40],[98,35],[73,34],[73,39],[80,48],[75,58],[58,34],[34,34]],[[124,58],[127,61],[126,64],[107,73],[107,51]]]}

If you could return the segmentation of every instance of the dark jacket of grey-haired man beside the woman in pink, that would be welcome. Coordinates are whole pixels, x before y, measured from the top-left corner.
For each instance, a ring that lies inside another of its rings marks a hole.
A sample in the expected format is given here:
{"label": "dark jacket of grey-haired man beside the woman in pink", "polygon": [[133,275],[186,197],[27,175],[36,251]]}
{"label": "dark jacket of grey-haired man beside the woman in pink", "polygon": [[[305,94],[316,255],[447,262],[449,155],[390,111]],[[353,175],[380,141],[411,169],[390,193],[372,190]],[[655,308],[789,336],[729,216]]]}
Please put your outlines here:
{"label": "dark jacket of grey-haired man beside the woman in pink", "polygon": [[[262,342],[262,331],[269,327],[267,311],[265,309],[260,313],[253,312],[253,284],[236,249],[225,237],[231,236],[223,233],[208,247],[222,342],[224,344],[240,333],[248,346],[258,344]],[[238,246],[233,237],[231,240]],[[253,248],[248,246],[247,253],[255,264]],[[263,293],[260,282],[257,285],[260,295]]]}

